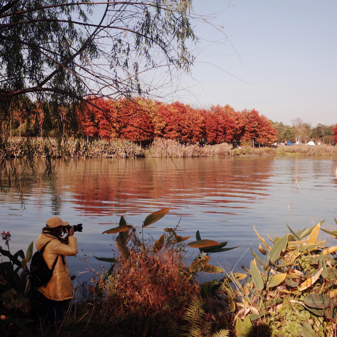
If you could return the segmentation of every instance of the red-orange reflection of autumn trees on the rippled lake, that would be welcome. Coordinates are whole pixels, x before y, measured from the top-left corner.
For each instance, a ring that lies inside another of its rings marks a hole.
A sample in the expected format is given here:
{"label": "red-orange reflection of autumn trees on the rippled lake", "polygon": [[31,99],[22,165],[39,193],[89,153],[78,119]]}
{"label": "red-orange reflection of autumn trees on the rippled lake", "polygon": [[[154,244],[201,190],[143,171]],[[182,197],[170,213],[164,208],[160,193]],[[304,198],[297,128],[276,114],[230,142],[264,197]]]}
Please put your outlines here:
{"label": "red-orange reflection of autumn trees on the rippled lake", "polygon": [[212,207],[212,212],[232,213],[231,209],[246,208],[246,203],[267,195],[268,160],[258,158],[242,165],[231,159],[196,158],[189,159],[188,165],[182,159],[175,163],[177,168],[166,158],[90,160],[78,164],[74,174],[65,174],[74,177],[69,182],[73,202],[86,214],[143,214],[144,208],[170,205],[187,213],[193,205],[204,207],[205,212]]}

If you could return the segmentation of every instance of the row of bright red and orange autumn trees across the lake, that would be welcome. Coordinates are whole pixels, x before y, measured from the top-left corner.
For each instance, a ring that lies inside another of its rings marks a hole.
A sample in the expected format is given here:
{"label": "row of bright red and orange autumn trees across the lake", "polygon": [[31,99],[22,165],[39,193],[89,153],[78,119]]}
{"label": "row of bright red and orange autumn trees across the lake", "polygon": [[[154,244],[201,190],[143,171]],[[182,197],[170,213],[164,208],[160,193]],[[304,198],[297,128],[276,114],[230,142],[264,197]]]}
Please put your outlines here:
{"label": "row of bright red and orange autumn trees across the lake", "polygon": [[92,98],[95,106],[79,114],[83,132],[104,140],[152,140],[158,136],[183,143],[219,144],[241,140],[271,144],[276,130],[270,120],[256,110],[236,112],[229,106],[212,106],[210,110],[193,109],[181,102],[132,99]]}

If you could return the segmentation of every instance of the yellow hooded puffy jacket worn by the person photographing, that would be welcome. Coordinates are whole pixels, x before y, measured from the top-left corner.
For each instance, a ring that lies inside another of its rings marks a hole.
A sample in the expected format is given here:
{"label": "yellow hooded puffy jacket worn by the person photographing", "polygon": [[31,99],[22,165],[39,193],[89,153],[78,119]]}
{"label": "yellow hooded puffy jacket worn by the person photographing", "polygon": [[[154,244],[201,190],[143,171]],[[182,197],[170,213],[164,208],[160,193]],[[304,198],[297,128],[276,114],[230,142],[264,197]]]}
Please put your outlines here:
{"label": "yellow hooded puffy jacket worn by the person photographing", "polygon": [[52,269],[55,259],[58,258],[58,260],[51,279],[47,284],[37,288],[37,290],[50,300],[63,301],[71,299],[74,290],[70,280],[67,260],[64,257],[65,264],[63,264],[62,257],[58,255],[76,255],[77,239],[69,236],[68,244],[65,244],[53,235],[42,233],[37,239],[36,249],[40,250],[46,243],[48,245],[45,246],[42,256],[49,269]]}

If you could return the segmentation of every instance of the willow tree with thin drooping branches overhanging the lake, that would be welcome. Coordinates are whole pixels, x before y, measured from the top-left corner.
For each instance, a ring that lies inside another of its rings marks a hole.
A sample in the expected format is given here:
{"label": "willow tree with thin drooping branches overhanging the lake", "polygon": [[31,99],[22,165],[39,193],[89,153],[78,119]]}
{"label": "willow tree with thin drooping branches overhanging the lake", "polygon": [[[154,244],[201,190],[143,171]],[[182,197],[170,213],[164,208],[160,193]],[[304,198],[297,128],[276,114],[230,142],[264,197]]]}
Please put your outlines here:
{"label": "willow tree with thin drooping branches overhanging the lake", "polygon": [[[159,78],[160,71],[189,70],[190,9],[191,0],[0,0],[0,189],[3,177],[20,185],[6,144],[12,117],[27,111],[28,98],[36,108],[21,115],[27,128],[35,125],[47,140],[53,130],[59,141],[79,140],[77,114],[93,96],[149,96],[159,83],[147,81],[146,71]],[[30,174],[34,158],[26,159],[22,170]]]}

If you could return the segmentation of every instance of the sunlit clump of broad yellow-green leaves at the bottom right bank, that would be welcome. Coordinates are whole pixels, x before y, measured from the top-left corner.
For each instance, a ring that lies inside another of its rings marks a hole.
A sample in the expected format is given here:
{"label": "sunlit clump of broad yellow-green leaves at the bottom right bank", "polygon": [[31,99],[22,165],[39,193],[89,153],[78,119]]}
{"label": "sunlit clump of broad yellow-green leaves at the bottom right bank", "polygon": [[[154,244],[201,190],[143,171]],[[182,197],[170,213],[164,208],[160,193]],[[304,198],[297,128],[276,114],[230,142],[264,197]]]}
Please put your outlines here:
{"label": "sunlit clump of broad yellow-green leaves at the bottom right bank", "polygon": [[323,222],[297,232],[288,226],[289,234],[268,236],[271,244],[254,228],[264,260],[251,248],[254,259],[243,267],[248,279],[229,278],[237,289],[236,317],[249,318],[251,330],[265,324],[271,336],[336,336],[337,246],[318,236],[324,231],[336,239],[337,232],[321,229]]}

